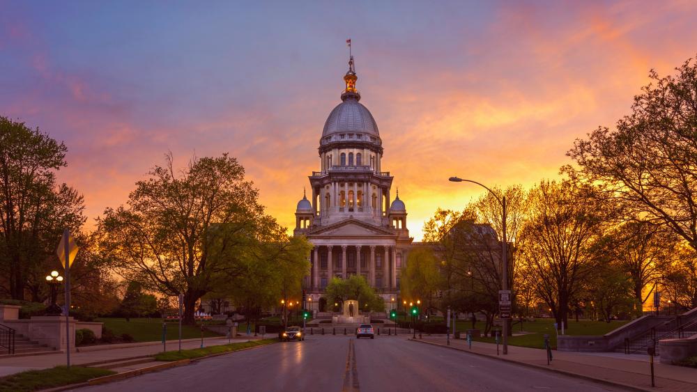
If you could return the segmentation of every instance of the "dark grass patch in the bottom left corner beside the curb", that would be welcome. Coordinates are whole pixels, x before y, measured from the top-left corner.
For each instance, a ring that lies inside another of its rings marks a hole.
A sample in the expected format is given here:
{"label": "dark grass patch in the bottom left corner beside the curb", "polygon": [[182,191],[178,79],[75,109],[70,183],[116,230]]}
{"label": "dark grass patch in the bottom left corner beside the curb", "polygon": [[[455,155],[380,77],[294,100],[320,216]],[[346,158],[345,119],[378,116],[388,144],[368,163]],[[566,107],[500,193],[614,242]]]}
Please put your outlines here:
{"label": "dark grass patch in the bottom left corner beside the curb", "polygon": [[83,368],[72,366],[56,366],[44,370],[28,370],[14,375],[0,377],[0,391],[38,391],[39,389],[54,388],[68,384],[86,382],[95,377],[113,375],[114,371],[100,368]]}

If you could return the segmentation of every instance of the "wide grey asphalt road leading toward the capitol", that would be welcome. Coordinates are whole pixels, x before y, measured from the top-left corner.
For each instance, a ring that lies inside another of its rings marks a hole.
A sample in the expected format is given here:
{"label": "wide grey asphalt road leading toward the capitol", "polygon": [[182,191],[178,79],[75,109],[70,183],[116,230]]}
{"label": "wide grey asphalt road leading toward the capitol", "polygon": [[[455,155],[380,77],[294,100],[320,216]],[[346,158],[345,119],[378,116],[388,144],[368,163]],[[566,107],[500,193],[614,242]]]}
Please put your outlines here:
{"label": "wide grey asphalt road leading toward the capitol", "polygon": [[380,337],[304,342],[216,356],[81,391],[621,391],[610,386]]}

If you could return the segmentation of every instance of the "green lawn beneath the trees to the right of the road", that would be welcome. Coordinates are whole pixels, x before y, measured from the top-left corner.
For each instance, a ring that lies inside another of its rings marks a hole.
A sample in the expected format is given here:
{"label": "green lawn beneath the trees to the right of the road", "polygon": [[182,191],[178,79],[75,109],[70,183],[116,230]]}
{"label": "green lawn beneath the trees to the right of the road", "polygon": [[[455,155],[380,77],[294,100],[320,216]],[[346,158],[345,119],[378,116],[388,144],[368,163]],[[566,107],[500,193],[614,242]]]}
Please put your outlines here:
{"label": "green lawn beneath the trees to the right of the road", "polygon": [[[604,321],[591,321],[591,320],[579,320],[576,322],[574,320],[569,320],[569,327],[565,327],[564,333],[572,336],[579,335],[604,335],[613,329],[617,329],[624,324],[625,321],[613,321],[610,323]],[[457,330],[466,331],[472,327],[472,323],[468,321],[458,321]],[[477,327],[484,328],[484,322],[477,322]],[[521,330],[520,324],[515,324],[513,326],[513,332],[519,332]],[[544,348],[544,334],[549,334],[549,342],[552,348],[557,347],[557,334],[554,330],[554,319],[552,318],[537,318],[535,321],[523,322],[523,330],[529,332],[523,336],[511,336],[508,338],[508,344],[514,346],[522,347],[533,347],[533,348]],[[475,341],[496,343],[495,338],[474,338]]]}

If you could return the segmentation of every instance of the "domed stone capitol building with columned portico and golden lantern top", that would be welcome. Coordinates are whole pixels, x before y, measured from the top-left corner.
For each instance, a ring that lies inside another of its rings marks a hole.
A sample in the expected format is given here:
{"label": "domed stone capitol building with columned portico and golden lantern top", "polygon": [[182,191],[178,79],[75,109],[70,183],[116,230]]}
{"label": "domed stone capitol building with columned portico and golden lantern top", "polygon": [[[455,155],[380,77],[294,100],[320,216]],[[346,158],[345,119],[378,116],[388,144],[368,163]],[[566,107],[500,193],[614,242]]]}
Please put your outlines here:
{"label": "domed stone capitol building with columned portico and golden lantern top", "polygon": [[314,245],[305,280],[308,308],[332,276],[362,275],[387,309],[399,300],[401,269],[412,246],[406,206],[382,167],[383,141],[370,111],[360,103],[353,56],[344,75],[342,102],[329,113],[319,139],[319,171],[298,202],[293,235]]}

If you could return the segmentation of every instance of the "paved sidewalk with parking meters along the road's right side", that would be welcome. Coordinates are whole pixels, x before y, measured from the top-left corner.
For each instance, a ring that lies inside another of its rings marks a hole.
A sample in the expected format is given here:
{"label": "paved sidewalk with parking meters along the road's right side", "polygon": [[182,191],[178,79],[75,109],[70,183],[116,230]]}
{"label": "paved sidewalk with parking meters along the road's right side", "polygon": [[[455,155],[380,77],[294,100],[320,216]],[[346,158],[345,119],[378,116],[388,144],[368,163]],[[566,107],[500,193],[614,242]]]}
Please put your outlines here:
{"label": "paved sidewalk with parking meters along the road's right side", "polygon": [[[424,336],[420,341],[447,347],[445,336]],[[508,354],[504,356],[503,346],[500,346],[499,350],[502,354],[497,356],[495,344],[472,342],[470,350],[467,341],[461,339],[450,339],[450,347],[600,382],[629,386],[639,390],[652,389],[648,356],[644,358],[631,356],[631,358],[623,359],[622,354],[607,355],[608,353],[603,352],[594,354],[554,350],[553,360],[547,366],[546,352],[542,349],[510,345]],[[665,365],[656,359],[654,375],[656,386],[661,391],[697,391],[697,369]]]}

